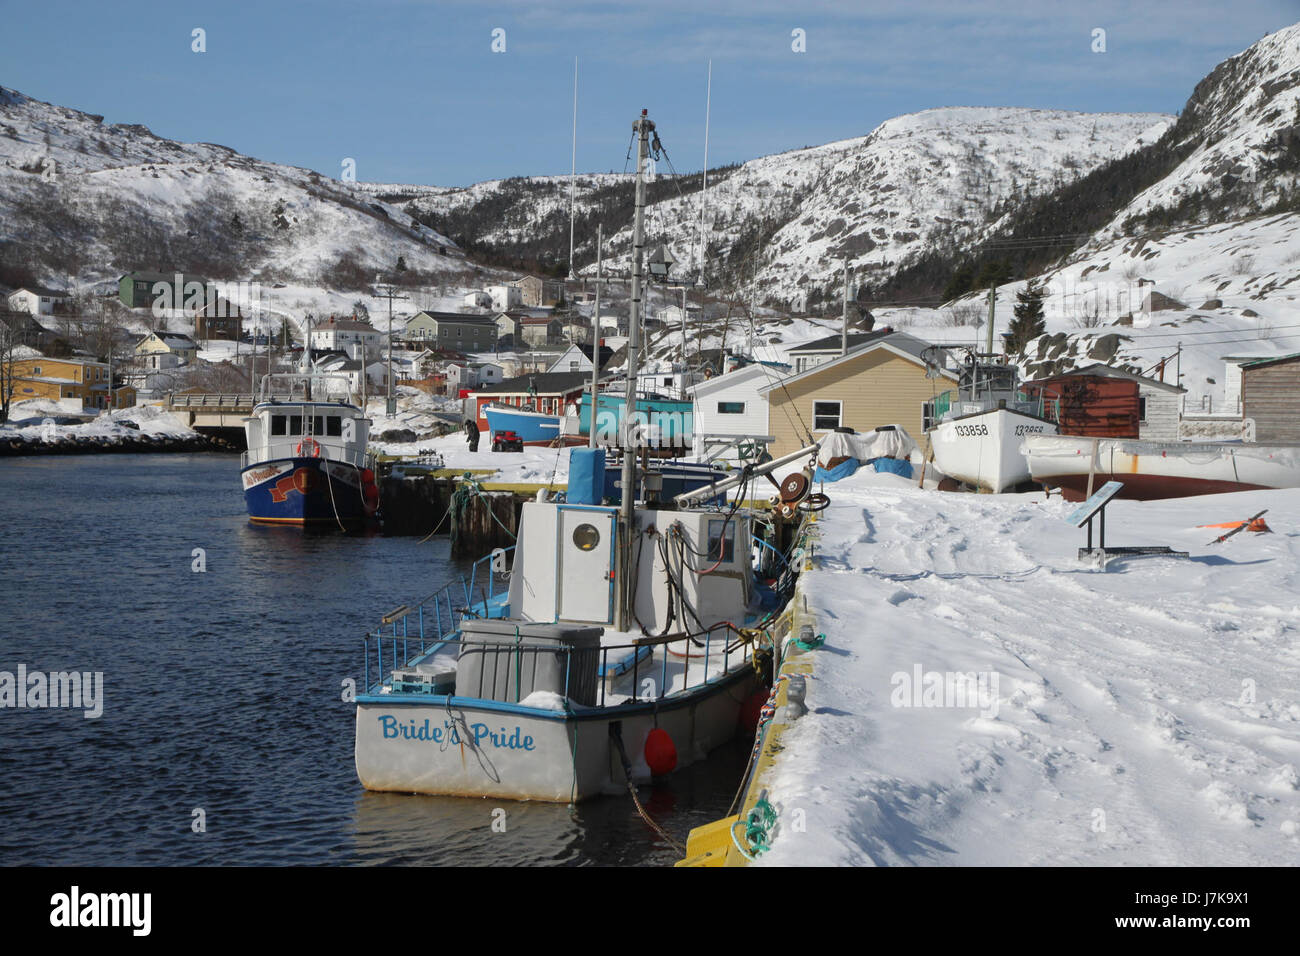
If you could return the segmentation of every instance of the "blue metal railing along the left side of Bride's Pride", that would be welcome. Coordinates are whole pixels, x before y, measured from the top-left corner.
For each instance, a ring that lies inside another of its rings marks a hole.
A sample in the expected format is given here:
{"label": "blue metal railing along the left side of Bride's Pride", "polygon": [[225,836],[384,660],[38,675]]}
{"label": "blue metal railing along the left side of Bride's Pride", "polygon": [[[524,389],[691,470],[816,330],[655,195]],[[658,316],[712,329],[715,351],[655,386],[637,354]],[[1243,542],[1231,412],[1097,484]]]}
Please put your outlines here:
{"label": "blue metal railing along the left side of Bride's Pride", "polygon": [[[438,650],[456,635],[464,617],[498,617],[508,598],[508,570],[503,564],[512,550],[514,545],[485,554],[469,568],[468,578],[448,581],[415,605],[389,611],[378,627],[367,631],[361,639],[365,692],[373,693],[386,678],[393,676],[393,671]],[[481,564],[486,564],[482,575],[478,571]]]}

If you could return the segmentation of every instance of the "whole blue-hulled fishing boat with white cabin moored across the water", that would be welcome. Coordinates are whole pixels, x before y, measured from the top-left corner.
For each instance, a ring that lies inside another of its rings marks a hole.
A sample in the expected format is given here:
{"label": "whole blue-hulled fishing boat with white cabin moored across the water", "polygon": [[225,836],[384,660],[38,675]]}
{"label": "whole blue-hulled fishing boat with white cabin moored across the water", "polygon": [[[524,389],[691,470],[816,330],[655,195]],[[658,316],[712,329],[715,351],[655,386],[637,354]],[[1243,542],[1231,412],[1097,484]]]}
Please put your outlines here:
{"label": "whole blue-hulled fishing boat with white cabin moored across the water", "polygon": [[250,520],[351,528],[374,516],[380,492],[367,453],[370,421],[346,398],[332,398],[339,381],[346,395],[341,376],[263,380],[263,397],[244,419],[248,450],[239,471]]}

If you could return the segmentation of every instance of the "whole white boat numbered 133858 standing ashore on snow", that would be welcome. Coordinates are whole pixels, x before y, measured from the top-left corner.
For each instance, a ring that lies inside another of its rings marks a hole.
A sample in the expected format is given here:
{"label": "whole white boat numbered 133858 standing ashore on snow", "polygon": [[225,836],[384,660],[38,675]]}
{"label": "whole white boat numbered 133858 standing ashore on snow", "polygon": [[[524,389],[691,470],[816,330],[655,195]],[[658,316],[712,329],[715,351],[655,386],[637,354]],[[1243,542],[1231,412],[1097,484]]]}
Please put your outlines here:
{"label": "whole white boat numbered 133858 standing ashore on snow", "polygon": [[[948,346],[927,350],[935,367],[937,355],[956,351]],[[1030,434],[1056,434],[1057,424],[1043,415],[1043,399],[1030,399],[1018,390],[1013,365],[962,349],[956,389],[937,395],[931,405],[930,444],[935,464],[945,475],[968,485],[1002,492],[1030,480],[1030,467],[1020,451]]]}

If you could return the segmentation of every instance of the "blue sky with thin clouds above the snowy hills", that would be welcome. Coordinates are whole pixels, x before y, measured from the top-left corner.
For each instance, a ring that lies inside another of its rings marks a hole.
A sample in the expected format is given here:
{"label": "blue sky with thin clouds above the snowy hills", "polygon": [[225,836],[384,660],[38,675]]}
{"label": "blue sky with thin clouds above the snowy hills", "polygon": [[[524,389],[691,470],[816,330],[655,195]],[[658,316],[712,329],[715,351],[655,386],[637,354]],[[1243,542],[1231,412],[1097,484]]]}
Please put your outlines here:
{"label": "blue sky with thin clouds above the snowy hills", "polygon": [[568,173],[575,56],[578,169],[621,170],[646,107],[685,172],[710,59],[718,165],[928,107],[1175,112],[1296,21],[1300,0],[0,0],[0,85],[326,176],[351,157],[359,179],[464,185]]}

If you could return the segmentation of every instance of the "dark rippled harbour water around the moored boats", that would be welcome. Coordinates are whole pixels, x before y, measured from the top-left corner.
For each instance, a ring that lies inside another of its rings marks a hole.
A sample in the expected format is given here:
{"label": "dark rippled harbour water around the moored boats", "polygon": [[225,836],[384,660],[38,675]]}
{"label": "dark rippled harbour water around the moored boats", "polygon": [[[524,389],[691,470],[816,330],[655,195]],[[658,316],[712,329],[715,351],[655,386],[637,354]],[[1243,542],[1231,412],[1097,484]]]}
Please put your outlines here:
{"label": "dark rippled harbour water around the moored boats", "polygon": [[[361,790],[342,701],[361,635],[459,571],[443,538],[251,525],[229,455],[0,459],[0,671],[104,672],[99,719],[0,709],[0,865],[671,862],[627,796]],[[684,843],[746,750],[641,799]]]}

